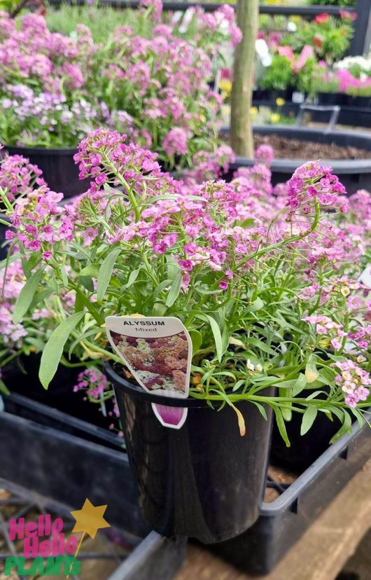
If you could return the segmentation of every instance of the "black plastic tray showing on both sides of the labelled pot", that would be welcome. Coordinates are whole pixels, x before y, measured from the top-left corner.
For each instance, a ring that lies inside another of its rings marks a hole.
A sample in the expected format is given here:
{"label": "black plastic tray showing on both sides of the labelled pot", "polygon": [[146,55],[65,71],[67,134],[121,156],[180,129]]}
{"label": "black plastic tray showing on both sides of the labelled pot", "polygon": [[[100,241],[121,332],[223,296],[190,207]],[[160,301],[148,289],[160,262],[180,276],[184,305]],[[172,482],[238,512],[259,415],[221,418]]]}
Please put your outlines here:
{"label": "black plastic tray showing on both sides of the labelled pot", "polygon": [[[63,504],[78,506],[85,497],[108,504],[112,525],[146,537],[122,439],[18,394],[4,403],[0,477]],[[300,476],[270,467],[257,522],[209,549],[248,574],[269,573],[370,455],[371,429],[355,425]]]}

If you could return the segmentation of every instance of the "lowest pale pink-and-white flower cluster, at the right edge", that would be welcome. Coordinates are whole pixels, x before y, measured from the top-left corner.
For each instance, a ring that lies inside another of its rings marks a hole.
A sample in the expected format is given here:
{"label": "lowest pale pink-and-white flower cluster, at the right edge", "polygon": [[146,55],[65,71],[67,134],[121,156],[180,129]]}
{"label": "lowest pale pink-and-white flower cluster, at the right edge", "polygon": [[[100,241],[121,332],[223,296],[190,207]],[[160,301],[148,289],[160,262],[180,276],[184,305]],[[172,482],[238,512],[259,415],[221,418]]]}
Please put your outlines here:
{"label": "lowest pale pink-and-white flower cluster, at the right edge", "polygon": [[350,407],[356,407],[359,401],[367,401],[370,395],[370,374],[350,360],[337,361],[331,365],[339,373],[335,377],[337,385],[342,387],[346,394],[345,402]]}

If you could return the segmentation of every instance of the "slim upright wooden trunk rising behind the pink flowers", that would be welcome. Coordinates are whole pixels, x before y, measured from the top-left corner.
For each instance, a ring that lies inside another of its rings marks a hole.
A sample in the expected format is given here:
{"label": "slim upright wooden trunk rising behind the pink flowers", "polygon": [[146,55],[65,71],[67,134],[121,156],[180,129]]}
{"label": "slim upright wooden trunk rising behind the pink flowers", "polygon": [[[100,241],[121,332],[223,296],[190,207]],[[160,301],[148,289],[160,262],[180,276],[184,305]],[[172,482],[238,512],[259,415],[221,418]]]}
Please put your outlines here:
{"label": "slim upright wooden trunk rising behind the pink flowers", "polygon": [[235,50],[230,100],[230,144],[237,155],[253,157],[250,109],[253,93],[255,39],[258,34],[258,0],[238,0],[237,25],[242,40]]}

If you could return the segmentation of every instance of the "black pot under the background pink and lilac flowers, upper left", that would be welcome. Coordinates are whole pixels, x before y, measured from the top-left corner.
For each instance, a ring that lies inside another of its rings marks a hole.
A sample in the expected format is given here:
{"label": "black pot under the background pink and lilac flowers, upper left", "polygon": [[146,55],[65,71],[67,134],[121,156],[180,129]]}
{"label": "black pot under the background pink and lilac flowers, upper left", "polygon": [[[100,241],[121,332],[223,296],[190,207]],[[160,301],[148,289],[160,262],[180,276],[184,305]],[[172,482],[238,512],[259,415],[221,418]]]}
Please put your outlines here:
{"label": "black pot under the background pink and lilac flowers, upper left", "polygon": [[62,192],[65,198],[84,193],[89,179],[78,179],[78,165],[73,161],[76,149],[43,149],[42,147],[6,146],[9,155],[22,155],[37,165],[52,191]]}

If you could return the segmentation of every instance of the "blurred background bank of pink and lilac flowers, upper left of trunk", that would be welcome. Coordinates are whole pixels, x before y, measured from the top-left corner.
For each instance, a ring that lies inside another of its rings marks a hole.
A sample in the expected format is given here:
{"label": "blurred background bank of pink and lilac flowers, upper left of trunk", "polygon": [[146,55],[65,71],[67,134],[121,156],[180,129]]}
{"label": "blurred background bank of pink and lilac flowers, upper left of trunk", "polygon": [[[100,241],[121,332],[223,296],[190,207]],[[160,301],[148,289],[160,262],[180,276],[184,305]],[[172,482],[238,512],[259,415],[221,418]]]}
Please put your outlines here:
{"label": "blurred background bank of pink and lilac flowers, upper left of trunk", "polygon": [[240,39],[234,11],[191,11],[188,24],[164,25],[156,24],[161,2],[144,4],[136,27],[117,27],[103,44],[82,25],[72,37],[50,32],[38,15],[20,27],[1,16],[1,139],[75,147],[106,126],[157,151],[167,169],[214,153],[221,100],[208,81],[215,50]]}

